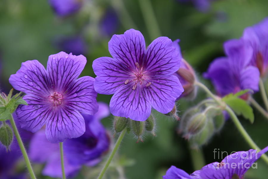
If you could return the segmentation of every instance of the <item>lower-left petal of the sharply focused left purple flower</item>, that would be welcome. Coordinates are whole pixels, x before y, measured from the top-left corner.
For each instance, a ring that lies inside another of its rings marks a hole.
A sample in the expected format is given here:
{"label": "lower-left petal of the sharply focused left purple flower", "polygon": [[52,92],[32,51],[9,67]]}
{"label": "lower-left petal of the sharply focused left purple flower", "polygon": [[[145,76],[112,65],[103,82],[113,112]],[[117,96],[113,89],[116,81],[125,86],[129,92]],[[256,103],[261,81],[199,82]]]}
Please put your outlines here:
{"label": "lower-left petal of the sharply focused left purple flower", "polygon": [[51,109],[36,96],[25,95],[23,99],[28,103],[28,106],[18,106],[16,110],[18,121],[22,129],[36,132],[46,123],[47,119],[50,118]]}

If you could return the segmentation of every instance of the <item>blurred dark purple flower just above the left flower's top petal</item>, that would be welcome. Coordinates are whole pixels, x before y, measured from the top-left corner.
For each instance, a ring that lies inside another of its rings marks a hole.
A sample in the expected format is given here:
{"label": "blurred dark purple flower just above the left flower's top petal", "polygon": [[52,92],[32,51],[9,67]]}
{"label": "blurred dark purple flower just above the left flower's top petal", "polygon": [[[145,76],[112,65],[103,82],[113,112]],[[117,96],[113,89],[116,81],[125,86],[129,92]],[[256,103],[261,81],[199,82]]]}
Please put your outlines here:
{"label": "blurred dark purple flower just above the left flower's top petal", "polygon": [[56,41],[56,46],[60,51],[73,55],[85,55],[88,49],[84,39],[80,36],[61,37]]}

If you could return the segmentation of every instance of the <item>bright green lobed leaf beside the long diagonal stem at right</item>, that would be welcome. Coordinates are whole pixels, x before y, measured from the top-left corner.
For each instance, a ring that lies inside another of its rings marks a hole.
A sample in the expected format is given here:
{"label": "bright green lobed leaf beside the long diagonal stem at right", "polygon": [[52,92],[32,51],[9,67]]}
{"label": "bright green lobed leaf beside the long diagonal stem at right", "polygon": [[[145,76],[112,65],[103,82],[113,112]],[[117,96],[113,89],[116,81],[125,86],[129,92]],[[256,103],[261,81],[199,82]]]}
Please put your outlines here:
{"label": "bright green lobed leaf beside the long diagonal stem at right", "polygon": [[236,94],[228,94],[222,98],[224,101],[237,115],[243,115],[244,118],[248,119],[251,124],[254,122],[253,109],[246,101],[238,98],[239,96],[245,94],[248,90],[239,91]]}

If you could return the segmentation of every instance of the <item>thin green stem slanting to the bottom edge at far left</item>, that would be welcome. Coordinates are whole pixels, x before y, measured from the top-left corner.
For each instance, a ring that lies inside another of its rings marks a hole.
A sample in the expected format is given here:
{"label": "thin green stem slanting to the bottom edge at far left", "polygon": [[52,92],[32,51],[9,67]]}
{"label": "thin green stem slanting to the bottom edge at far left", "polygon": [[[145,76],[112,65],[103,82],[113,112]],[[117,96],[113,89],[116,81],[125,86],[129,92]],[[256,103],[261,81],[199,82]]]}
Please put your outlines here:
{"label": "thin green stem slanting to the bottom edge at far left", "polygon": [[30,177],[31,177],[31,179],[36,179],[36,178],[35,178],[35,173],[33,172],[33,169],[32,169],[32,166],[31,166],[31,163],[30,163],[30,160],[29,160],[29,157],[28,157],[28,155],[27,155],[27,152],[26,152],[26,150],[25,150],[25,147],[24,147],[24,145],[23,145],[23,142],[22,142],[22,140],[21,140],[21,137],[20,137],[20,135],[19,135],[19,133],[18,133],[18,129],[17,129],[17,127],[16,127],[16,124],[15,124],[15,121],[14,121],[14,119],[13,119],[13,116],[12,116],[12,115],[10,115],[10,116],[11,116],[11,118],[10,118],[10,124],[11,124],[11,126],[12,126],[14,135],[15,135],[17,141],[18,141],[18,145],[20,146],[21,153],[22,153],[22,155],[23,155],[23,157],[24,157],[24,160],[25,160],[27,169],[28,169],[28,171],[29,171]]}

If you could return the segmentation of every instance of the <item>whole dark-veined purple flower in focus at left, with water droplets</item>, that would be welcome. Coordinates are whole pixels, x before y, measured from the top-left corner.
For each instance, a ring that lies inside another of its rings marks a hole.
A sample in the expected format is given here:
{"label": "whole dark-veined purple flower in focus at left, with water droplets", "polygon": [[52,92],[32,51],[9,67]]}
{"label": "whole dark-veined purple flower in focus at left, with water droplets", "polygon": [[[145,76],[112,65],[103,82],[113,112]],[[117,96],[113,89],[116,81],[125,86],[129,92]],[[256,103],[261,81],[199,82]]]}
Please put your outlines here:
{"label": "whole dark-veined purple flower in focus at left, with water droplets", "polygon": [[46,124],[46,137],[52,143],[77,138],[85,132],[81,113],[93,115],[98,105],[94,78],[77,77],[86,64],[83,55],[60,52],[50,55],[47,70],[37,60],[26,61],[9,78],[10,84],[26,93],[28,103],[18,106],[21,128],[38,131]]}

